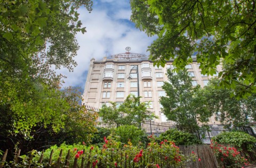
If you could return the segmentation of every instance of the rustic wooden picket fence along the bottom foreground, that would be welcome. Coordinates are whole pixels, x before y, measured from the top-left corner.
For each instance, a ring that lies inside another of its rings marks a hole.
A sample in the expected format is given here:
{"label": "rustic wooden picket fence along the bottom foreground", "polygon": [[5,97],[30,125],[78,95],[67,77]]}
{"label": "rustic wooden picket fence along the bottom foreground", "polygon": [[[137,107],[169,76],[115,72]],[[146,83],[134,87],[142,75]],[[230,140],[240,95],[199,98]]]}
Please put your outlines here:
{"label": "rustic wooden picket fence along the bottom foreground", "polygon": [[[196,159],[196,160],[190,159],[187,162],[185,162],[185,164],[186,164],[185,167],[199,167],[199,168],[200,167],[202,167],[202,168],[218,167],[218,162],[216,160],[216,157],[214,156],[214,153],[212,152],[212,150],[209,148],[208,145],[179,146],[179,148],[180,148],[180,152],[182,154],[184,154],[185,156],[191,156],[191,151],[194,151],[196,153],[197,157],[201,159],[201,161],[199,161],[198,159]],[[92,162],[86,161],[85,157],[82,157],[81,161],[79,161],[79,164],[78,164],[77,158],[74,158],[74,162],[70,164],[71,150],[68,151],[68,154],[66,155],[65,162],[61,161],[61,158],[63,157],[62,149],[59,152],[58,159],[53,162],[53,159],[52,159],[53,152],[54,151],[52,150],[48,162],[42,163],[43,158],[44,158],[44,151],[42,151],[40,158],[36,162],[36,164],[37,165],[39,164],[40,166],[44,166],[44,167],[86,167],[86,168],[92,167]],[[84,153],[85,153],[85,150],[83,150],[83,154]],[[6,158],[7,158],[7,154],[8,154],[8,150],[5,151],[5,153],[2,157],[2,160],[0,162],[0,168],[7,166],[7,162],[5,162]],[[28,162],[26,163],[26,165],[22,165],[22,163],[20,163],[20,160],[19,160],[19,154],[20,154],[20,150],[17,151],[17,153],[14,156],[13,163],[11,163],[11,165],[8,165],[8,167],[15,167],[15,165],[17,165],[18,163],[22,167],[35,167],[35,161],[33,160],[33,155],[30,155],[28,157]],[[118,167],[124,167],[124,168],[135,167],[135,165],[132,161],[133,158],[126,157],[126,153],[121,153],[120,157],[122,157],[120,159],[120,160],[122,160],[122,162],[120,161],[118,163]],[[152,164],[151,164],[151,166],[147,166],[147,167],[156,167],[155,166],[156,164],[159,164],[160,167],[170,167],[170,168],[174,167],[172,165],[165,163],[164,160],[148,158],[148,156],[146,156],[146,155],[143,155],[142,160],[141,160],[141,162],[142,162],[141,167],[146,167],[148,162],[150,162]],[[105,167],[105,165],[102,164],[103,162],[104,162],[103,160],[99,159],[99,162],[97,163],[95,168]]]}

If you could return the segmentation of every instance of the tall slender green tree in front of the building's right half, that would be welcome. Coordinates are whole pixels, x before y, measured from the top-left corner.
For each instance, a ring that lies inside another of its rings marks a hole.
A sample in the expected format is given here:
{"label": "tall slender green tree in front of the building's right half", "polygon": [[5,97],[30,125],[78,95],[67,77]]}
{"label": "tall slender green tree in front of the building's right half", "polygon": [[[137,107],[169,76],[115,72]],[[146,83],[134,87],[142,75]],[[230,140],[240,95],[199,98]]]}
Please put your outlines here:
{"label": "tall slender green tree in front of the building's right half", "polygon": [[209,121],[211,112],[205,106],[205,100],[198,95],[201,89],[198,85],[193,88],[192,79],[186,70],[179,71],[177,75],[167,71],[169,82],[164,82],[163,89],[166,97],[160,98],[164,115],[168,120],[175,121],[178,126],[188,132],[199,130],[198,122],[202,124]]}

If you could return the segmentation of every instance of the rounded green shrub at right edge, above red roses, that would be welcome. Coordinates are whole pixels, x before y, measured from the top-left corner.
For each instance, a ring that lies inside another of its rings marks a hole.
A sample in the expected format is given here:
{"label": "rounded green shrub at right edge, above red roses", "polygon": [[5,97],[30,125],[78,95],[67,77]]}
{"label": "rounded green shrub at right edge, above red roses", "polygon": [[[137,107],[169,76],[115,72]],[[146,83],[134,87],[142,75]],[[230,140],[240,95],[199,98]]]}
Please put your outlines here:
{"label": "rounded green shrub at right edge, above red roses", "polygon": [[212,138],[212,141],[219,144],[229,144],[236,146],[238,149],[253,151],[256,138],[242,131],[222,132]]}

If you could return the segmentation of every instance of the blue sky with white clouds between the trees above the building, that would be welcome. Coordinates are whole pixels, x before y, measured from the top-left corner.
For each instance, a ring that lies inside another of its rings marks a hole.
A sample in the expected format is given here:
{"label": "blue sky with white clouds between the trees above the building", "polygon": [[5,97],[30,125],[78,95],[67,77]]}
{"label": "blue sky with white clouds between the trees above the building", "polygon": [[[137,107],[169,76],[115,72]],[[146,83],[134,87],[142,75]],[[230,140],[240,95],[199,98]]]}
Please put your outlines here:
{"label": "blue sky with white clouds between the trees above the building", "polygon": [[[86,26],[87,33],[78,34],[77,40],[80,46],[75,58],[78,66],[74,72],[61,69],[65,74],[63,87],[73,86],[84,89],[90,60],[102,60],[106,55],[114,55],[125,52],[125,47],[131,47],[131,52],[146,52],[153,38],[147,37],[144,32],[135,28],[130,21],[130,0],[97,0],[94,1],[93,11],[89,13],[86,9],[79,9],[79,20],[82,26]],[[106,52],[107,51],[107,52]]]}

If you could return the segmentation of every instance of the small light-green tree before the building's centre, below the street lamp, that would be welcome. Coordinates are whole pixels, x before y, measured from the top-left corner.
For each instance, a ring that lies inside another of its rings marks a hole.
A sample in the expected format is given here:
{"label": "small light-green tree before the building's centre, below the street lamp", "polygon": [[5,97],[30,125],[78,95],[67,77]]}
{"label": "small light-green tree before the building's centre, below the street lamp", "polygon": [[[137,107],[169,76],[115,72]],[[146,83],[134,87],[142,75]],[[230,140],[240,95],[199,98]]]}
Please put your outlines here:
{"label": "small light-green tree before the building's centre, below the street lamp", "polygon": [[117,126],[137,125],[145,120],[156,118],[150,110],[147,110],[148,104],[140,102],[140,98],[129,95],[120,105],[116,102],[111,102],[112,106],[103,105],[99,110],[99,117],[102,117],[103,123],[117,124]]}

